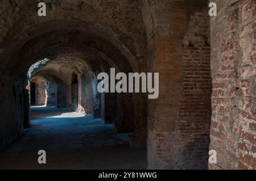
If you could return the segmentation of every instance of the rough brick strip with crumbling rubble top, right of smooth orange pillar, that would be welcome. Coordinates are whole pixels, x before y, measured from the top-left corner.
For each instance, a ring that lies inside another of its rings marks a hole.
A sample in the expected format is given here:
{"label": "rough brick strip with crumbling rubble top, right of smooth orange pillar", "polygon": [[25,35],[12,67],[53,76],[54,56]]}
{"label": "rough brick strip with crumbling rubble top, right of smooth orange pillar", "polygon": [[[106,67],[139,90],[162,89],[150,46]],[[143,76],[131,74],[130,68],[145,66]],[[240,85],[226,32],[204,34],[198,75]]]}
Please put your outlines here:
{"label": "rough brick strip with crumbling rubble top, right of smooth orange pillar", "polygon": [[177,106],[177,166],[206,169],[209,153],[210,31],[208,10],[191,14],[183,40],[183,98]]}

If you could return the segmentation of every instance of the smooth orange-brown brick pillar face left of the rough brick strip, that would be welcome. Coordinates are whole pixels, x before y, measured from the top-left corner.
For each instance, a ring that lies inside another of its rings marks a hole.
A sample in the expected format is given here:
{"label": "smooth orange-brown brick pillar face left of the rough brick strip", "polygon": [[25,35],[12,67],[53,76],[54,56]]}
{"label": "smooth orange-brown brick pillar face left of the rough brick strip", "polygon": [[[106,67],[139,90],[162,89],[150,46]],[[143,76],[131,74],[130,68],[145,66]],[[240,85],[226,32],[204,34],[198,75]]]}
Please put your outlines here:
{"label": "smooth orange-brown brick pillar face left of the rough brick strip", "polygon": [[182,40],[159,35],[154,47],[157,52],[149,64],[154,62],[152,72],[159,73],[159,98],[148,100],[148,168],[175,169],[175,123],[177,103],[182,96]]}

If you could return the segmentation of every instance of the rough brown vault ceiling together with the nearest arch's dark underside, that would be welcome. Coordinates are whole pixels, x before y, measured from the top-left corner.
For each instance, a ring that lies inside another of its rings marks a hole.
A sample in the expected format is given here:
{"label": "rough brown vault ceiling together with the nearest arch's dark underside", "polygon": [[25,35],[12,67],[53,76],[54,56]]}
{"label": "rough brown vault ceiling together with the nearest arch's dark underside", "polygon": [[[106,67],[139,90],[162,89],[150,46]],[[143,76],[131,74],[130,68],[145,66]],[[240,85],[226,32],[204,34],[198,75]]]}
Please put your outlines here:
{"label": "rough brown vault ceiling together with the nearest arch's dark underside", "polygon": [[[65,31],[72,32],[69,38],[73,41],[85,36],[97,40],[98,48],[115,47],[115,53],[122,54],[133,71],[138,71],[137,60],[146,52],[146,31],[136,1],[56,2],[55,5],[47,3],[46,17],[37,15],[36,2],[12,1],[11,5],[0,2],[2,7],[7,7],[0,10],[3,14],[0,21],[5,22],[5,26],[0,27],[0,66],[7,65],[18,52],[26,51],[23,46],[34,39],[57,36],[57,32]],[[9,18],[5,18],[7,16]]]}

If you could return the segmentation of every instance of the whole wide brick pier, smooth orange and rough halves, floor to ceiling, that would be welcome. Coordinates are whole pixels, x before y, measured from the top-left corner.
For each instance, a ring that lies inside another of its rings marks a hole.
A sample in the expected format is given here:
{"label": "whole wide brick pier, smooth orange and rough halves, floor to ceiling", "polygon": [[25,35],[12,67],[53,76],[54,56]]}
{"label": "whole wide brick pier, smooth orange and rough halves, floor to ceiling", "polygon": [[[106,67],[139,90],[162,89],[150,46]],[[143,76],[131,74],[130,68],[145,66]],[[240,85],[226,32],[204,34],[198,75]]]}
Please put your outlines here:
{"label": "whole wide brick pier, smooth orange and rough halves, floor to ceiling", "polygon": [[148,169],[207,169],[207,1],[142,2],[148,72],[159,73],[159,98],[148,100]]}

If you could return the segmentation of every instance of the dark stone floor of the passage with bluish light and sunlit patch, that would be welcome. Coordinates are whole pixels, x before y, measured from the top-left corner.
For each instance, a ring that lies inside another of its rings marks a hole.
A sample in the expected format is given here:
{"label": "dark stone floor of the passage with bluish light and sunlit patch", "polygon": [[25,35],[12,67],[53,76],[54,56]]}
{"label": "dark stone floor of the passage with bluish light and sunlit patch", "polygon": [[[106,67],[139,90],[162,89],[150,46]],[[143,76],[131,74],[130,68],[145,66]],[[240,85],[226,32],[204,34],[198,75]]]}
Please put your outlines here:
{"label": "dark stone floor of the passage with bluish light and sunlit patch", "polygon": [[0,169],[146,169],[146,149],[131,149],[128,135],[88,115],[32,107],[31,127],[0,153]]}

